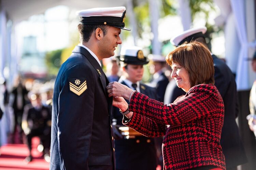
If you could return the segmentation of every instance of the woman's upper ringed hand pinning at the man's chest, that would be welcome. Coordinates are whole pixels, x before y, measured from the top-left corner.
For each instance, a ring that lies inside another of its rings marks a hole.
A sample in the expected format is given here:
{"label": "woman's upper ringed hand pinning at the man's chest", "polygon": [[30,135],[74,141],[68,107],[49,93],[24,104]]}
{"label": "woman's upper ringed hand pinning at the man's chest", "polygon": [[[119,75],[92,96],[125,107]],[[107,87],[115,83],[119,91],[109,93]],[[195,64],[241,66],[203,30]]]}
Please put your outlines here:
{"label": "woman's upper ringed hand pinning at the man's chest", "polygon": [[107,91],[108,91],[109,97],[120,96],[120,97],[123,97],[123,98],[129,100],[131,92],[133,90],[121,83],[111,82],[107,86]]}

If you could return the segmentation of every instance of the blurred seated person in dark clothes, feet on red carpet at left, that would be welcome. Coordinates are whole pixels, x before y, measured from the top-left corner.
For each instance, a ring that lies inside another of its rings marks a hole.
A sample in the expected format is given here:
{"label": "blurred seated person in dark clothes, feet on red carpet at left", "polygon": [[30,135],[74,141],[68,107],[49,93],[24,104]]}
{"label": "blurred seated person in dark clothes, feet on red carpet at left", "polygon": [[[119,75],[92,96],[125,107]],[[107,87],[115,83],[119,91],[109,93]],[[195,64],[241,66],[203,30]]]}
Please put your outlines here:
{"label": "blurred seated person in dark clothes, feet on red carpet at left", "polygon": [[43,145],[44,158],[49,162],[49,148],[51,141],[51,113],[49,108],[44,106],[38,92],[30,92],[29,98],[31,104],[24,107],[22,118],[22,128],[27,137],[27,145],[29,156],[25,162],[29,163],[32,160],[31,155],[31,139],[38,136]]}

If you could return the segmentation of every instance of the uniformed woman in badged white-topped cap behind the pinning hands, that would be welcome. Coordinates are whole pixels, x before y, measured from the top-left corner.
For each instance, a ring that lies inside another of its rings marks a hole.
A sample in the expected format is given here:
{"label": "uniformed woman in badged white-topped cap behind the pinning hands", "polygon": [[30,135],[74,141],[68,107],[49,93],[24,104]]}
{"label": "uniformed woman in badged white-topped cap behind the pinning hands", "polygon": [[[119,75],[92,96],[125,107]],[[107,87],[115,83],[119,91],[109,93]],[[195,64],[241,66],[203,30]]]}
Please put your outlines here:
{"label": "uniformed woman in badged white-topped cap behind the pinning hands", "polygon": [[[140,47],[122,47],[117,57],[123,75],[119,79],[129,88],[139,91],[152,99],[157,98],[156,89],[140,83],[148,58],[144,57]],[[128,101],[129,102],[129,101]],[[112,120],[118,125],[122,124],[123,115],[119,109],[113,107]],[[113,123],[115,124],[115,123]],[[131,137],[131,136],[130,136]],[[158,164],[154,138],[135,136],[134,138],[115,138],[116,170],[155,170]]]}

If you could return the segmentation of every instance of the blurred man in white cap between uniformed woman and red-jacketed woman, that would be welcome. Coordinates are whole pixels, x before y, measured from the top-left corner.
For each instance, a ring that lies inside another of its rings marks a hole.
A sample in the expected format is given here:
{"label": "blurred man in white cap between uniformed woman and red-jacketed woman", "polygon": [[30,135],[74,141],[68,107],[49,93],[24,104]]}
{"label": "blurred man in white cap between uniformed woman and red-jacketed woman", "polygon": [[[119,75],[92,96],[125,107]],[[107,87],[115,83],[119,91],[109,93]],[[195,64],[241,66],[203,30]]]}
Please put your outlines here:
{"label": "blurred man in white cap between uniformed woman and red-jacketed woman", "polygon": [[150,86],[155,87],[159,101],[163,102],[165,90],[169,83],[169,79],[165,75],[166,61],[165,57],[156,54],[149,54],[148,58],[151,60],[150,70],[153,72],[153,79]]}

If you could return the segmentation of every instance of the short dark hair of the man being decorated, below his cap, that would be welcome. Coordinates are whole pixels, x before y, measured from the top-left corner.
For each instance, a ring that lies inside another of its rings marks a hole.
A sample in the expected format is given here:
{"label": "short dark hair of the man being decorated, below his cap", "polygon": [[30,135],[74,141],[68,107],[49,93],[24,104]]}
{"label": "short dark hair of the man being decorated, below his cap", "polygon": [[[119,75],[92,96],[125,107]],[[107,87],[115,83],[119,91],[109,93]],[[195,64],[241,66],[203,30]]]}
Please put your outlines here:
{"label": "short dark hair of the man being decorated, below his cap", "polygon": [[[108,26],[109,27],[109,26]],[[77,29],[80,34],[80,42],[85,41],[88,42],[91,34],[97,29],[100,28],[105,36],[108,29],[105,25],[85,25],[85,24],[78,24]]]}

